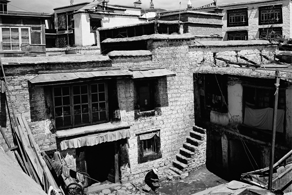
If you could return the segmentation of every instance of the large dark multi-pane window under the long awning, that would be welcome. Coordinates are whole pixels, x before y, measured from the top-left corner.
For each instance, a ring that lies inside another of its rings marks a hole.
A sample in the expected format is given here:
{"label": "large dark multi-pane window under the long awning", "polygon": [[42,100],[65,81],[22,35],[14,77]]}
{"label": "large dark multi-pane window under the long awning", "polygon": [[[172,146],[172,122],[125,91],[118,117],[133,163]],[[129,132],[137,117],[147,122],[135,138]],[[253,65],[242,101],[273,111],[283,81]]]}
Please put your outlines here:
{"label": "large dark multi-pane window under the long awning", "polygon": [[54,87],[57,129],[108,121],[107,84]]}

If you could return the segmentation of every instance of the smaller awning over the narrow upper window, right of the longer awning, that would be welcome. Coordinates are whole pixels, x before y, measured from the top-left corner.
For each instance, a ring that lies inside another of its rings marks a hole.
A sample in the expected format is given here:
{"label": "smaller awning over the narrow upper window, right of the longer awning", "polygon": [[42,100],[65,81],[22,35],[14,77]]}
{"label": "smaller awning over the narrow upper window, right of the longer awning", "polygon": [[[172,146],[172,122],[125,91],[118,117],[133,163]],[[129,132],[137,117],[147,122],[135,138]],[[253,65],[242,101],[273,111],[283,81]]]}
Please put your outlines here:
{"label": "smaller awning over the narrow upper window, right of the longer awning", "polygon": [[147,77],[159,77],[159,76],[175,76],[176,73],[167,69],[154,69],[154,70],[138,70],[133,71],[133,78],[147,78]]}

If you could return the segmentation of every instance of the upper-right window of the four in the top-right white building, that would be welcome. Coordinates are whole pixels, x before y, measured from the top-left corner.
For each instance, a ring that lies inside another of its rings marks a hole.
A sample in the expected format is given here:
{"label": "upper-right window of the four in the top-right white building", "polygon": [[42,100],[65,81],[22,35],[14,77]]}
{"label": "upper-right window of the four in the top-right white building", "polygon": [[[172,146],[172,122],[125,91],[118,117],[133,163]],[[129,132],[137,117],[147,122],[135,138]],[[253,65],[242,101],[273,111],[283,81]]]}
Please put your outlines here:
{"label": "upper-right window of the four in the top-right white building", "polygon": [[282,5],[258,6],[258,24],[282,24]]}

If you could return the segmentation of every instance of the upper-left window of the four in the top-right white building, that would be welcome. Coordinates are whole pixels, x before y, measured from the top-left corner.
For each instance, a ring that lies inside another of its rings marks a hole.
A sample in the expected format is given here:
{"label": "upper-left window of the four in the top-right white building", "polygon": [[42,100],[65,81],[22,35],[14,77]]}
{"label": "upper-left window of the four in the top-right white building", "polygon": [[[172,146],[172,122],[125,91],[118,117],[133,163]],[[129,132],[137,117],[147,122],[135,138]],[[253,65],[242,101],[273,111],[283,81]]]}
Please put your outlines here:
{"label": "upper-left window of the four in the top-right white building", "polygon": [[227,10],[227,27],[248,26],[247,8]]}

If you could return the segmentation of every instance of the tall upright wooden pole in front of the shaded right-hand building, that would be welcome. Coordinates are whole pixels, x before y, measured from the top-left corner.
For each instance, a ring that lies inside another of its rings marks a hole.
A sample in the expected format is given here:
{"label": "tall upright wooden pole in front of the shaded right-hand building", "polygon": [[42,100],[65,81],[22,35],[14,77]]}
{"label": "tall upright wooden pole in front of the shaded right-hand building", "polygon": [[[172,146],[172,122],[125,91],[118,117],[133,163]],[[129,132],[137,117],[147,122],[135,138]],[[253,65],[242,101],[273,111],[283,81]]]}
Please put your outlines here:
{"label": "tall upright wooden pole in front of the shaded right-hand building", "polygon": [[273,136],[272,136],[272,144],[271,144],[271,152],[270,152],[270,170],[269,170],[269,185],[268,190],[272,190],[272,182],[273,182],[273,166],[274,166],[274,151],[275,151],[275,137],[276,137],[276,124],[277,124],[277,109],[278,109],[278,95],[279,90],[278,86],[280,83],[279,70],[276,70],[276,92],[275,92],[275,102],[274,102],[274,118],[273,118]]}

